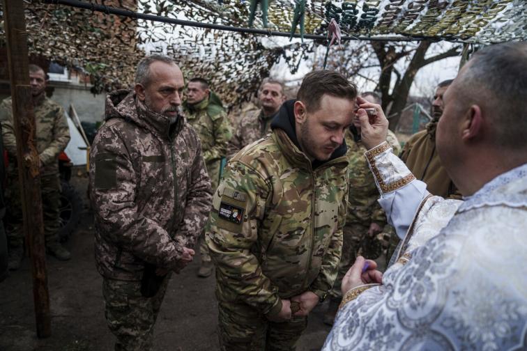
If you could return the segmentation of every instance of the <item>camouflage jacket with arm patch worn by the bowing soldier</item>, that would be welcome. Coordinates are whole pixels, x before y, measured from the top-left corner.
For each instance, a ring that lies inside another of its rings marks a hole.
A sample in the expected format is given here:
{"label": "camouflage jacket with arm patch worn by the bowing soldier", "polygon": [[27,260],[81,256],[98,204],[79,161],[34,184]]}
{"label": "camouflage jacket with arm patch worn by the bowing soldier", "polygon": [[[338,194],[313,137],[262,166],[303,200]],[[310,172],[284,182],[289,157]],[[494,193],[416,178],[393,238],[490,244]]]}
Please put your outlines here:
{"label": "camouflage jacket with arm patch worn by the bowing soldier", "polygon": [[286,102],[273,133],[229,160],[206,228],[218,299],[269,315],[280,312],[280,299],[330,290],[346,217],[345,143],[328,162],[312,164],[290,114]]}

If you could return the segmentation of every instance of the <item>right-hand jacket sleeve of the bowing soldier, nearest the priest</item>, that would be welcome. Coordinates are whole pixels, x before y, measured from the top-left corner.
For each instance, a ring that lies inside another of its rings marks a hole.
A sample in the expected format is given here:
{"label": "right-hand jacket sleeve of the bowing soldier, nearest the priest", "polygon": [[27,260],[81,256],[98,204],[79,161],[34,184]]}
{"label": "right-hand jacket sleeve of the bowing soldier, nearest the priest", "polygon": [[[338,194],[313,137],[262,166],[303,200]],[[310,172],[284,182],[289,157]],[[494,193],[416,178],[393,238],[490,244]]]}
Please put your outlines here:
{"label": "right-hand jacket sleeve of the bowing soldier, nearest the priest", "polygon": [[346,194],[346,196],[339,206],[337,230],[333,234],[333,237],[331,237],[331,242],[322,258],[319,276],[316,277],[310,286],[310,291],[314,292],[319,297],[320,301],[325,299],[326,294],[331,288],[333,288],[333,283],[335,283],[335,279],[337,279],[340,258],[342,256],[344,224],[346,224],[349,189],[346,189],[344,194]]}

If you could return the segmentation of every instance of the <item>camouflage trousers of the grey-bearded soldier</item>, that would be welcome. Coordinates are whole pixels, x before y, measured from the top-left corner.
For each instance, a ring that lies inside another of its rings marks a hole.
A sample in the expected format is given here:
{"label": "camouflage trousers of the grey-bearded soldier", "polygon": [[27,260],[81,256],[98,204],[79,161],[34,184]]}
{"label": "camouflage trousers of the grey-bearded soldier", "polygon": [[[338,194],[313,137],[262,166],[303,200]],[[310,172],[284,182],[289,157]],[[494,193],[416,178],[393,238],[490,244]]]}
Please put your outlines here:
{"label": "camouflage trousers of the grey-bearded soldier", "polygon": [[115,351],[149,351],[153,347],[153,326],[167,291],[170,274],[153,297],[141,295],[141,281],[103,278],[105,317],[117,338]]}

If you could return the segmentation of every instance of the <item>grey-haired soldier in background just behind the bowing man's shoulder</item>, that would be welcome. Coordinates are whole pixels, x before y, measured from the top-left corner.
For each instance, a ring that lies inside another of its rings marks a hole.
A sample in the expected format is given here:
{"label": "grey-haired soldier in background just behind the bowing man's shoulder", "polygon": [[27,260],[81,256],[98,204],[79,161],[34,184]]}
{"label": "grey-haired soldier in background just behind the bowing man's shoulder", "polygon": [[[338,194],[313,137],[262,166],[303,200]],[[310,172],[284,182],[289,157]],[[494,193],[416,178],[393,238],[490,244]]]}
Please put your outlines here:
{"label": "grey-haired soldier in background just behind the bowing man's shoulder", "polygon": [[258,99],[261,109],[242,116],[227,148],[229,157],[268,134],[271,120],[286,100],[284,84],[274,79],[263,79],[258,89]]}

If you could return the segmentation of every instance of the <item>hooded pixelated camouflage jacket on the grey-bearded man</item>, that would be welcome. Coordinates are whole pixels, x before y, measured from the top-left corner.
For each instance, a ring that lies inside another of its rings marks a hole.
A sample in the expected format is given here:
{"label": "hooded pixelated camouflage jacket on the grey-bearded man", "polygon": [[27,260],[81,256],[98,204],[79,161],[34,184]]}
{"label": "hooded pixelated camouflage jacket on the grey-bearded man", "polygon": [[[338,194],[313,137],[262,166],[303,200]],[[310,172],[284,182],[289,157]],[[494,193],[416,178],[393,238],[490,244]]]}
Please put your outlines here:
{"label": "hooded pixelated camouflage jacket on the grey-bearded man", "polygon": [[211,207],[199,139],[183,118],[170,125],[130,91],[107,95],[106,120],[90,155],[98,270],[137,280],[145,263],[177,269]]}

